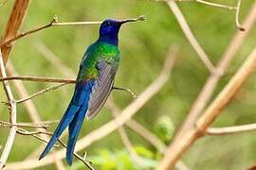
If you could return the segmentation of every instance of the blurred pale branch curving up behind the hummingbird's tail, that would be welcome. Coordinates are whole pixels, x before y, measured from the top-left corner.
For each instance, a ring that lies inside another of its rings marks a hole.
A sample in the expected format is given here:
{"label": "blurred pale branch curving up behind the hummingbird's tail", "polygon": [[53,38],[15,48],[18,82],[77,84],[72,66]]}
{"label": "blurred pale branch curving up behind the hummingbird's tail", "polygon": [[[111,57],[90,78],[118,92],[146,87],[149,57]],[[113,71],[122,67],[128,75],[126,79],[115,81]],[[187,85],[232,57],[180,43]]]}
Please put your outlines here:
{"label": "blurred pale branch curving up behind the hummingbird's tail", "polygon": [[[125,122],[129,121],[131,117],[137,113],[137,110],[140,110],[156,93],[158,93],[161,88],[168,81],[169,76],[171,75],[172,68],[174,66],[175,58],[174,54],[171,53],[168,55],[165,60],[164,67],[159,76],[155,78],[155,81],[149,85],[140,95],[135,99],[129,106],[127,106],[124,110],[121,111],[120,115],[114,120],[104,124],[98,129],[92,131],[87,136],[83,137],[76,144],[76,151],[81,150],[82,148],[95,143],[106,135],[110,134],[118,127],[122,126]],[[59,160],[64,158],[65,150],[62,149],[57,152],[57,158]],[[52,156],[46,157],[46,159],[42,161],[35,160],[27,160],[23,162],[12,162],[8,164],[9,169],[13,169],[15,167],[24,167],[24,168],[36,168],[39,166],[44,166],[46,164],[52,163]]]}

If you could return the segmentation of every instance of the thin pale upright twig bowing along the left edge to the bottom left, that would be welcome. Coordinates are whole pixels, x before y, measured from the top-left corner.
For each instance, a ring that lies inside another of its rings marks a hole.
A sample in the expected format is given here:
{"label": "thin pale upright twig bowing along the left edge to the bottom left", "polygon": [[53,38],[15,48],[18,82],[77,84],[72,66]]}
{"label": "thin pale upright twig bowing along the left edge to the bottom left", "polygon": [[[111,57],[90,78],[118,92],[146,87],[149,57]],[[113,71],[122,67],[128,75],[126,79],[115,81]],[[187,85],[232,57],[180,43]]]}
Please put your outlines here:
{"label": "thin pale upright twig bowing along the left edge to the bottom left", "polygon": [[[6,73],[5,63],[4,63],[4,59],[2,57],[1,49],[0,49],[0,69],[1,69],[1,75],[3,77],[6,77],[7,73]],[[13,95],[11,93],[11,90],[9,87],[9,82],[4,81],[3,86],[4,86],[5,93],[7,95],[8,101],[9,101],[9,107],[10,107],[9,122],[10,122],[10,124],[16,124],[16,103],[15,103]],[[11,150],[12,144],[14,143],[16,130],[17,130],[17,127],[15,127],[15,126],[10,127],[9,137],[8,137],[7,143],[5,145],[5,148],[4,148],[1,158],[0,158],[0,169],[3,169],[6,165],[6,162],[9,157],[9,152]]]}

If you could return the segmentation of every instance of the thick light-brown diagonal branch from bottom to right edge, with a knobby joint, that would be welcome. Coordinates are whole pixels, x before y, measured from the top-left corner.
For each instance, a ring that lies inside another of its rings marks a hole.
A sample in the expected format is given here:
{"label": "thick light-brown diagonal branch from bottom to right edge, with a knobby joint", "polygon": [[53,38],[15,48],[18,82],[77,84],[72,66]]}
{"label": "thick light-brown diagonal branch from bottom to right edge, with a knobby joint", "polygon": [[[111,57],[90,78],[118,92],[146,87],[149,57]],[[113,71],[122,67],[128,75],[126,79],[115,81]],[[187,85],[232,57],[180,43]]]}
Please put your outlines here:
{"label": "thick light-brown diagonal branch from bottom to right edge, with a knobby joint", "polygon": [[203,115],[196,122],[196,126],[184,133],[178,144],[171,145],[167,149],[167,153],[162,161],[160,161],[159,169],[173,169],[175,162],[178,161],[182,154],[190,148],[190,146],[201,137],[210,124],[221,113],[230,102],[231,98],[242,88],[247,78],[256,69],[256,47],[247,57],[246,61],[237,71],[237,73],[229,80],[225,88],[217,95],[204,111]]}

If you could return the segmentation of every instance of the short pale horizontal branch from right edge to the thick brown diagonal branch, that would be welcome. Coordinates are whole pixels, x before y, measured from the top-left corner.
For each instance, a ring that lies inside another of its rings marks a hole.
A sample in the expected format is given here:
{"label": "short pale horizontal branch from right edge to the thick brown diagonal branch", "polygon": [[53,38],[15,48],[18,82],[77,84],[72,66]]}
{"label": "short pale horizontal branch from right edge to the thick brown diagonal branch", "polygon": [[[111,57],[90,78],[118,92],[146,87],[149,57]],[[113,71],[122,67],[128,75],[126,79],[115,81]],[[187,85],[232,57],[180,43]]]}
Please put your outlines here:
{"label": "short pale horizontal branch from right edge to the thick brown diagonal branch", "polygon": [[256,124],[248,124],[233,127],[209,127],[206,130],[206,135],[227,135],[241,132],[256,130]]}

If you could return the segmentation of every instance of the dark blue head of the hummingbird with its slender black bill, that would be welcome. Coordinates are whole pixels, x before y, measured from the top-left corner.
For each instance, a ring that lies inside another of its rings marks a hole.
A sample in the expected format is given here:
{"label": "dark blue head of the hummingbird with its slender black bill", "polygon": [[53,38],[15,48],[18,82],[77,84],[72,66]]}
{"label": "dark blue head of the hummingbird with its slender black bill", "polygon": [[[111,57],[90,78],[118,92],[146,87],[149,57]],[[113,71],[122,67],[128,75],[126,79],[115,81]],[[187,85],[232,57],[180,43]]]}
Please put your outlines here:
{"label": "dark blue head of the hummingbird with its slender black bill", "polygon": [[107,19],[103,21],[100,27],[99,41],[118,45],[120,26],[124,23],[133,22],[133,21],[134,20],[117,21],[112,19]]}

